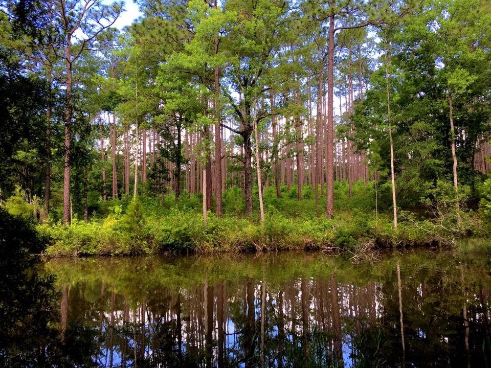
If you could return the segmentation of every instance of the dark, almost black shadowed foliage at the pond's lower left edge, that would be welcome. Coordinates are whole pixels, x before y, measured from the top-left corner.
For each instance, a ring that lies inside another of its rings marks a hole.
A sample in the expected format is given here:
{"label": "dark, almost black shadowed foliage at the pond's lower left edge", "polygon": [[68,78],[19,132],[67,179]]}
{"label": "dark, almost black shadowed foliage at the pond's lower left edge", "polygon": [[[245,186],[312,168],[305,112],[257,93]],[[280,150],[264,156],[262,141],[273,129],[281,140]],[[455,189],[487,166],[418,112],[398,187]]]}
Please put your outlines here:
{"label": "dark, almost black shadowed foliage at the pond's lower left edge", "polygon": [[54,275],[40,275],[42,241],[0,208],[0,366],[93,366],[99,347],[91,324],[60,316]]}

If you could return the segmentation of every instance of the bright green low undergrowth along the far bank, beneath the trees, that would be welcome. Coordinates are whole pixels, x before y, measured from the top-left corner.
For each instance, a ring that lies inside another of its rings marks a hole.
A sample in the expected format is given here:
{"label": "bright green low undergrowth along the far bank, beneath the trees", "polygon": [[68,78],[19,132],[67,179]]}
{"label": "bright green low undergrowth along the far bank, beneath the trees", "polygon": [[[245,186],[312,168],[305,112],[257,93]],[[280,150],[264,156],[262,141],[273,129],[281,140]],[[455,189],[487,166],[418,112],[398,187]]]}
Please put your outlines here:
{"label": "bright green low undergrowth along the far bank, beneath the trees", "polygon": [[[224,214],[209,211],[207,225],[200,212],[200,196],[184,194],[176,202],[173,195],[160,200],[141,195],[136,200],[123,197],[93,203],[88,222],[74,218],[65,226],[51,220],[38,224],[37,229],[50,239],[44,251],[47,257],[294,249],[360,252],[449,245],[458,245],[462,251],[490,248],[483,211],[457,210],[452,200],[447,200],[444,183],[439,198],[428,202],[425,211],[399,211],[397,229],[390,208],[379,203],[380,213],[371,209],[373,186],[356,183],[353,197],[347,195],[346,187],[337,184],[337,208],[331,220],[324,214],[325,197],[320,196],[316,206],[308,186],[302,200],[296,198],[295,187],[284,187],[281,198],[276,197],[274,188],[266,188],[266,215],[261,224],[258,213],[244,214],[240,189],[234,187],[224,194]],[[477,244],[469,238],[481,240]]]}

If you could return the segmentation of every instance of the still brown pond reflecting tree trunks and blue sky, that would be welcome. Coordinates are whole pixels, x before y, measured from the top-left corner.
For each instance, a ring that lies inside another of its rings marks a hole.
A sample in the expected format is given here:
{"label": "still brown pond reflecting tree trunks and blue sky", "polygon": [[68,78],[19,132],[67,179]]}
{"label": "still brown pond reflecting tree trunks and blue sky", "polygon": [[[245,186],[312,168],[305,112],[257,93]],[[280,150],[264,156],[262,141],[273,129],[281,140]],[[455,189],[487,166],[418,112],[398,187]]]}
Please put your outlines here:
{"label": "still brown pond reflecting tree trunks and blue sky", "polygon": [[103,367],[489,366],[488,256],[350,256],[51,260],[63,348],[41,349]]}

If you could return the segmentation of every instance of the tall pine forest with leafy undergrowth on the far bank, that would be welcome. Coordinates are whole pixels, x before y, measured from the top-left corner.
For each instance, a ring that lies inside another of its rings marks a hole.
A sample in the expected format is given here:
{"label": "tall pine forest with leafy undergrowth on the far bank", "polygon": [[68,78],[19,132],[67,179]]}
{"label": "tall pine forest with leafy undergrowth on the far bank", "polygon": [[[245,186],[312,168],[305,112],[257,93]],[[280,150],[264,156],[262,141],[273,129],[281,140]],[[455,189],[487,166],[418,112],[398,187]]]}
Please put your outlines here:
{"label": "tall pine forest with leafy undergrowth on the far bank", "polygon": [[2,0],[0,213],[50,257],[489,247],[486,0]]}

